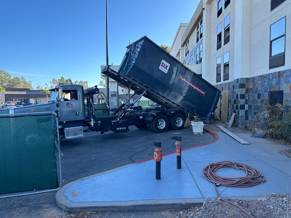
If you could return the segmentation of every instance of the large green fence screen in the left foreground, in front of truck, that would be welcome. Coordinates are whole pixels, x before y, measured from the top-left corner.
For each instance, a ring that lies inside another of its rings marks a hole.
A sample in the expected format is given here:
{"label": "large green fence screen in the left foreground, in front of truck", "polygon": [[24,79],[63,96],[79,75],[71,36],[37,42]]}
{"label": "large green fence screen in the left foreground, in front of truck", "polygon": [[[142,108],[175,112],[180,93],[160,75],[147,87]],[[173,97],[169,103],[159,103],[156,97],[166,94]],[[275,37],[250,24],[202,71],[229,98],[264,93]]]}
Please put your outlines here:
{"label": "large green fence screen in the left foreground, in front of truck", "polygon": [[53,115],[0,117],[1,194],[59,186],[55,125]]}

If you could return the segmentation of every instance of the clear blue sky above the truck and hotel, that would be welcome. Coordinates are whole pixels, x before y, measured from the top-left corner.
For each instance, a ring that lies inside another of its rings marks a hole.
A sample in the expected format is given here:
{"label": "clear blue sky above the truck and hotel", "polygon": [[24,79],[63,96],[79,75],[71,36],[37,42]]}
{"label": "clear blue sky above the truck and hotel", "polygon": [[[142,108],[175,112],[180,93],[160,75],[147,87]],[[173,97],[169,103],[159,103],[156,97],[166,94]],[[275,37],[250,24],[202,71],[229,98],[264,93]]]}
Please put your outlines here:
{"label": "clear blue sky above the truck and hotel", "polygon": [[[171,46],[198,2],[108,0],[109,64],[119,65],[128,40],[143,35]],[[33,85],[54,76],[99,83],[106,64],[105,0],[11,0],[0,8],[0,69]]]}

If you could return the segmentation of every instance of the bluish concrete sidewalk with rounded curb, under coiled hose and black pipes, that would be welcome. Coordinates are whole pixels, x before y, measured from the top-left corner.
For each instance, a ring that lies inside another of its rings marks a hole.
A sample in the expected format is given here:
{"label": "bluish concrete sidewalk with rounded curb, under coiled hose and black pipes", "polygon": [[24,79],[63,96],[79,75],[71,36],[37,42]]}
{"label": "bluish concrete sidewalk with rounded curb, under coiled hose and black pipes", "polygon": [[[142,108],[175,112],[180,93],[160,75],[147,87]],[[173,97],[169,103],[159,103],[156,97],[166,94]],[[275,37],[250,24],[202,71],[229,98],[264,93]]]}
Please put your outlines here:
{"label": "bluish concrete sidewalk with rounded curb, under coiled hose and black pipes", "polygon": [[[222,197],[255,200],[271,193],[287,193],[291,179],[291,159],[276,151],[288,149],[250,134],[237,133],[250,145],[242,145],[225,133],[218,133],[212,144],[182,151],[182,169],[176,168],[176,154],[163,156],[161,181],[155,181],[155,161],[134,163],[63,186],[56,193],[56,203],[69,211],[155,210],[189,208],[214,198],[213,183],[202,175],[209,163],[233,161],[250,165],[265,176],[266,181],[253,187],[219,186]],[[162,144],[163,148],[163,144]],[[183,139],[182,139],[183,149]],[[217,170],[224,177],[245,176],[235,168]]]}

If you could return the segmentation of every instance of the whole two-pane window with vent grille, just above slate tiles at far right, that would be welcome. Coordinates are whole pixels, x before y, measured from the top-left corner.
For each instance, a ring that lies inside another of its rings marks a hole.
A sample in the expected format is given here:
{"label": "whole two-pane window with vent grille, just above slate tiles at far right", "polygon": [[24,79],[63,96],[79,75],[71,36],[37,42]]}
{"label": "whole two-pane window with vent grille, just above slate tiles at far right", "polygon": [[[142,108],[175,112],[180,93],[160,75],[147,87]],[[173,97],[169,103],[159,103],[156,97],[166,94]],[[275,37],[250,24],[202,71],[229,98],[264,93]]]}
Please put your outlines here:
{"label": "whole two-pane window with vent grille, just above slate tiles at far right", "polygon": [[285,64],[285,30],[286,17],[270,26],[269,68]]}

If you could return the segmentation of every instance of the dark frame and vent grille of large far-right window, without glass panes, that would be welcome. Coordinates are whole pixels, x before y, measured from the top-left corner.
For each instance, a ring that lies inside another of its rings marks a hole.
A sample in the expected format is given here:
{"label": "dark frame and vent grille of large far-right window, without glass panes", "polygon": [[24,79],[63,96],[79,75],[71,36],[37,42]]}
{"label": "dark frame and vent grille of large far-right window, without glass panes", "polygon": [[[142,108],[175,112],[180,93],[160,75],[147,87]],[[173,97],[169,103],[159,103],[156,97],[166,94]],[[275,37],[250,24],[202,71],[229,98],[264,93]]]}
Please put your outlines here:
{"label": "dark frame and vent grille of large far-right window, without glass panes", "polygon": [[[285,31],[284,31],[284,34],[279,35],[278,37],[276,37],[276,38],[274,38],[274,39],[271,40],[271,26],[272,26],[273,24],[275,24],[276,22],[278,22],[279,20],[283,19],[283,18],[285,18]],[[281,67],[281,66],[284,66],[284,65],[285,65],[285,52],[286,52],[286,23],[287,23],[287,19],[286,19],[286,18],[287,18],[287,17],[284,16],[284,17],[282,17],[281,19],[278,19],[276,22],[274,22],[274,23],[272,23],[272,24],[270,25],[269,69],[273,69],[273,68]],[[280,39],[280,38],[282,38],[282,37],[284,37],[284,51],[281,52],[281,53],[278,53],[278,54],[275,54],[275,55],[272,56],[272,42],[274,42],[274,41],[276,41],[276,40],[278,40],[278,39]],[[280,59],[281,61],[279,61],[277,64],[274,63],[274,60],[276,61],[276,60],[279,60],[279,59]]]}

